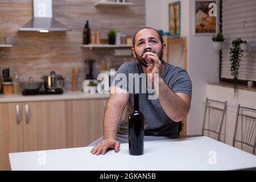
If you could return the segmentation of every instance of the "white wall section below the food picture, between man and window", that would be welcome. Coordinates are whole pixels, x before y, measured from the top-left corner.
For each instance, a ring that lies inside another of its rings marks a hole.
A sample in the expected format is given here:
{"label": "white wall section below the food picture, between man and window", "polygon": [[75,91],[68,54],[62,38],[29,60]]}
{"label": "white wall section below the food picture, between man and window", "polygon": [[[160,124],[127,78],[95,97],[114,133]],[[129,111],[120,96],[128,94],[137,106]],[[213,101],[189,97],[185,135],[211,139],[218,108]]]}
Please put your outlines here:
{"label": "white wall section below the food picture, between man and window", "polygon": [[188,114],[187,133],[200,134],[203,125],[207,83],[218,81],[219,54],[212,47],[212,36],[195,36],[193,31],[195,0],[189,1],[188,73],[191,77],[192,102]]}

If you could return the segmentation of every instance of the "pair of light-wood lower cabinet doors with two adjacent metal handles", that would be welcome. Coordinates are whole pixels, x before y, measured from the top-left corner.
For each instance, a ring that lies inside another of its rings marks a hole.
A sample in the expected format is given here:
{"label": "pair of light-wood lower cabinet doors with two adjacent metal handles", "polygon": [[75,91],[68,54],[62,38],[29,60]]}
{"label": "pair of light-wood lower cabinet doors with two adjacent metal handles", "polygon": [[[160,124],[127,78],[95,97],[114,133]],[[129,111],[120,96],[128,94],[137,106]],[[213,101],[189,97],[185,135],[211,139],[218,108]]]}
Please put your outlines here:
{"label": "pair of light-wood lower cabinet doors with two adjacent metal handles", "polygon": [[0,170],[9,170],[10,152],[68,147],[65,101],[0,104]]}

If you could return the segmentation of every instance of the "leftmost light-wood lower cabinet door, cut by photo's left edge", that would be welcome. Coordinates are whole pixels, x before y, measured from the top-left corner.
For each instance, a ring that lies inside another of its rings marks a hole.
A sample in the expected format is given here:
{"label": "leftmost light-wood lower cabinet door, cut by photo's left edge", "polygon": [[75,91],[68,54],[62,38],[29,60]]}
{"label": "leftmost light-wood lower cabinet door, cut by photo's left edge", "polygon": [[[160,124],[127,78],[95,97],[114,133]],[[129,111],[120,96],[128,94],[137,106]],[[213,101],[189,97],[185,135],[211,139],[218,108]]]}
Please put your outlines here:
{"label": "leftmost light-wood lower cabinet door, cut by photo's left edge", "polygon": [[22,104],[0,104],[0,170],[10,170],[9,153],[23,151]]}

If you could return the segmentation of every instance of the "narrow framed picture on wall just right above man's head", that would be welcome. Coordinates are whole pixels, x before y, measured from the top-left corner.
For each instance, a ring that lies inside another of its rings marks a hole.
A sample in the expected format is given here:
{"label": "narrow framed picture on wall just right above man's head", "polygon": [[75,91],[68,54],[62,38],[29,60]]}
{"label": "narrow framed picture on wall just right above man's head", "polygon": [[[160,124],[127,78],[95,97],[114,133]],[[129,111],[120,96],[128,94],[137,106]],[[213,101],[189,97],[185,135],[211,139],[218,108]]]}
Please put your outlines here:
{"label": "narrow framed picture on wall just right above man's head", "polygon": [[169,30],[171,36],[180,36],[180,1],[169,4]]}

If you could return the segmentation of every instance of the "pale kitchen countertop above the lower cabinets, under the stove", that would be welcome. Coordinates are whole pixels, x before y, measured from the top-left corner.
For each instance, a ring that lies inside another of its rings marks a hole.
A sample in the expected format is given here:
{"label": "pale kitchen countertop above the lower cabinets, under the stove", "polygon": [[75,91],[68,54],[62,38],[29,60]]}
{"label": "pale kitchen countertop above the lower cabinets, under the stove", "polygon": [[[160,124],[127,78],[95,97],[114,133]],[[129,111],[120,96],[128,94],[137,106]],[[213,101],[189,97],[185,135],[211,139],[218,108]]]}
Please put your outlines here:
{"label": "pale kitchen countertop above the lower cabinets, under the stove", "polygon": [[90,94],[81,91],[68,91],[63,94],[22,96],[22,94],[3,95],[0,94],[0,102],[28,102],[28,101],[56,101],[56,100],[81,100],[92,98],[109,98],[110,94]]}

